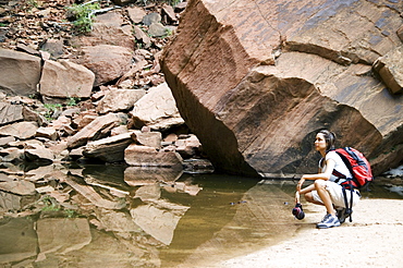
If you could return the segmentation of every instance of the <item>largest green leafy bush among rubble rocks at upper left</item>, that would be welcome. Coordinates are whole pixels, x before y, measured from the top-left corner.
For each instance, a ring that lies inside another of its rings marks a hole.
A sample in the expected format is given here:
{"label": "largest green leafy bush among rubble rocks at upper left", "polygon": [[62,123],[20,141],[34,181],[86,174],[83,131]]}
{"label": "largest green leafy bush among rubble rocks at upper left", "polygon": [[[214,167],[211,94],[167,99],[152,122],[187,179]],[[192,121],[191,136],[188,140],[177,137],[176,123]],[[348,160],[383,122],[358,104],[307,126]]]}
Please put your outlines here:
{"label": "largest green leafy bush among rubble rocks at upper left", "polygon": [[73,14],[74,29],[78,34],[85,34],[91,31],[93,28],[93,11],[99,10],[99,3],[89,3],[89,4],[73,4],[72,7],[66,8],[69,12]]}

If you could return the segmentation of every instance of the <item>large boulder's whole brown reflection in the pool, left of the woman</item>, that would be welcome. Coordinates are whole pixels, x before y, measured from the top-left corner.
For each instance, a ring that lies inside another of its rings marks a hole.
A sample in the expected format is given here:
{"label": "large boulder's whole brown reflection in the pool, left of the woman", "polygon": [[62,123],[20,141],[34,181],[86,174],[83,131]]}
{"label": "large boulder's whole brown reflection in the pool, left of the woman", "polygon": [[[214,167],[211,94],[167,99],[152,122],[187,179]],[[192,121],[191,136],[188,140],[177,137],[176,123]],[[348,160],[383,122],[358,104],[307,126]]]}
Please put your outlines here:
{"label": "large boulder's whole brown reflection in the pool, left of the woman", "polygon": [[224,183],[230,185],[203,184],[204,191],[179,222],[170,247],[161,251],[163,267],[216,267],[219,260],[246,255],[295,233],[298,224],[290,216],[291,205],[284,204],[292,199],[292,183]]}

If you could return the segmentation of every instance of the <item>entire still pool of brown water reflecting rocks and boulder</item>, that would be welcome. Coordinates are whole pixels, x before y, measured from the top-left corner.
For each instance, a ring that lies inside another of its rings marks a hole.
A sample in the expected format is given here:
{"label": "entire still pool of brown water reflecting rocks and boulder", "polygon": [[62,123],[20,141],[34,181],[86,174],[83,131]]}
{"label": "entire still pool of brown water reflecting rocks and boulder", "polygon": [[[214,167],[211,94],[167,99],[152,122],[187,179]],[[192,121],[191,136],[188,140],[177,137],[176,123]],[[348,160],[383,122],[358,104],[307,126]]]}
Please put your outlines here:
{"label": "entire still pool of brown water reflecting rocks and boulder", "polygon": [[282,219],[278,193],[245,178],[10,163],[0,174],[0,266],[188,266],[269,241]]}

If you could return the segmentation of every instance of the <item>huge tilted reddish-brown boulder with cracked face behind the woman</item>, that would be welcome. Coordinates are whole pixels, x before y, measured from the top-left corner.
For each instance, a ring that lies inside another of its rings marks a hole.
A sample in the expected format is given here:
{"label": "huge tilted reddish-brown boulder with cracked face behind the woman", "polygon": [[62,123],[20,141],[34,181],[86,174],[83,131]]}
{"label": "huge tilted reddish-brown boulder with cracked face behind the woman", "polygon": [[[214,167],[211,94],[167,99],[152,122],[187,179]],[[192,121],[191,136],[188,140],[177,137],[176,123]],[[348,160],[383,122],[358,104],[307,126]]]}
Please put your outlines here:
{"label": "huge tilted reddish-brown boulder with cracked face behind the woman", "polygon": [[330,129],[378,174],[403,156],[402,95],[373,68],[402,46],[402,11],[400,1],[194,0],[161,65],[219,169],[315,172],[315,134]]}

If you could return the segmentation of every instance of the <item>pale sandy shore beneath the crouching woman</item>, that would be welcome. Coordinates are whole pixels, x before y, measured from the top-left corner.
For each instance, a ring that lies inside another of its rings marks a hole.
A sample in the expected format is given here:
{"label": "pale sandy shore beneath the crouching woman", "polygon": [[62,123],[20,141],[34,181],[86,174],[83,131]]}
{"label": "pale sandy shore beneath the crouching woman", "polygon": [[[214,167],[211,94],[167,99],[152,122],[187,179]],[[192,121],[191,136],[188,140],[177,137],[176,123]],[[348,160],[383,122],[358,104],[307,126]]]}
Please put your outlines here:
{"label": "pale sandy shore beneath the crouching woman", "polygon": [[323,208],[306,204],[304,210],[291,239],[213,267],[403,267],[403,200],[362,199],[353,222],[321,230]]}

